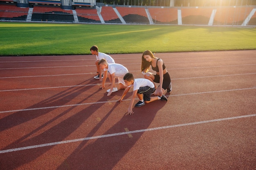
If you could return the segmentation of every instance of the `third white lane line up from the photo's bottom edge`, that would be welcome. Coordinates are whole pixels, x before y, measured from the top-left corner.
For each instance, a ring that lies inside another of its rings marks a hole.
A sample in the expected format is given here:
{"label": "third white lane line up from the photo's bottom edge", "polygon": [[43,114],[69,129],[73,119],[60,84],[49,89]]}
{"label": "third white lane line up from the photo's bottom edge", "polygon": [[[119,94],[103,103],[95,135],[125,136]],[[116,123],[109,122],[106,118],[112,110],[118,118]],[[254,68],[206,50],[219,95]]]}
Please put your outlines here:
{"label": "third white lane line up from the photo's bottom edge", "polygon": [[[224,76],[241,76],[241,75],[250,75],[250,74],[256,74],[256,73],[229,74],[229,75],[218,75],[218,76],[201,76],[201,77],[185,77],[185,78],[171,78],[171,80],[182,80],[182,79],[191,79],[191,78],[211,78],[211,77],[224,77]],[[105,84],[110,84],[110,83],[105,83]],[[90,85],[101,85],[101,84],[90,84]],[[9,90],[0,90],[0,92],[11,92],[11,91],[21,91],[21,90],[38,90],[38,89],[53,89],[53,88],[66,88],[66,87],[81,87],[81,86],[90,86],[90,85],[69,85],[69,86],[30,88],[30,89],[9,89]]]}

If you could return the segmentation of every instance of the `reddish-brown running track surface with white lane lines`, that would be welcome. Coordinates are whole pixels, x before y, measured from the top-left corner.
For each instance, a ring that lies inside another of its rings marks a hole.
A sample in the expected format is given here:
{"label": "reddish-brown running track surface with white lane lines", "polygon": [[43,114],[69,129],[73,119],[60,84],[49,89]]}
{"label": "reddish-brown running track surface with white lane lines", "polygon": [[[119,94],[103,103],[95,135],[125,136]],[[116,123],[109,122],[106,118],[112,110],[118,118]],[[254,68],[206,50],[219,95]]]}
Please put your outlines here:
{"label": "reddish-brown running track surface with white lane lines", "polygon": [[[141,54],[111,56],[142,78]],[[255,169],[256,51],[155,56],[173,91],[134,115],[95,56],[0,57],[0,169]]]}

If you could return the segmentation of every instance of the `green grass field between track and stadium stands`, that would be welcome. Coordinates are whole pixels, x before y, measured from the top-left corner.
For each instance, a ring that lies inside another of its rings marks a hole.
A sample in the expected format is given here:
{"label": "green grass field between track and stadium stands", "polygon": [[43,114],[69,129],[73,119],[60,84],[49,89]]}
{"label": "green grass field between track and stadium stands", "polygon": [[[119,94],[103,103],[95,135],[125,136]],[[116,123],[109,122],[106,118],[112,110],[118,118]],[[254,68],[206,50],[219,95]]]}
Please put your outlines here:
{"label": "green grass field between track and stadium stands", "polygon": [[0,22],[0,56],[256,49],[256,28]]}

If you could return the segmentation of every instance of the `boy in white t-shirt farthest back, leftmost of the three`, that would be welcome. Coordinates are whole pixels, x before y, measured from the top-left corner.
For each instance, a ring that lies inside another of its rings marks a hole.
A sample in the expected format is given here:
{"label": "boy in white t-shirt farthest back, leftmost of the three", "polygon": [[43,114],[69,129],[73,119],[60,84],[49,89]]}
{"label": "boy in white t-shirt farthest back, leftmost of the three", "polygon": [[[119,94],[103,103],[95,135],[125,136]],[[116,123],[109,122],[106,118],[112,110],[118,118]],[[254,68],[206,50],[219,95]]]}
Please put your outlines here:
{"label": "boy in white t-shirt farthest back, leftmost of the three", "polygon": [[[102,71],[101,69],[99,69],[99,61],[100,59],[106,59],[106,61],[108,61],[108,63],[115,63],[114,59],[112,59],[112,57],[110,57],[110,55],[99,52],[99,48],[97,46],[92,46],[90,48],[92,55],[96,55],[96,61],[95,61],[95,65],[97,67],[97,75],[94,76],[95,79],[99,79],[99,81],[102,81]],[[101,76],[99,76],[101,75]]]}

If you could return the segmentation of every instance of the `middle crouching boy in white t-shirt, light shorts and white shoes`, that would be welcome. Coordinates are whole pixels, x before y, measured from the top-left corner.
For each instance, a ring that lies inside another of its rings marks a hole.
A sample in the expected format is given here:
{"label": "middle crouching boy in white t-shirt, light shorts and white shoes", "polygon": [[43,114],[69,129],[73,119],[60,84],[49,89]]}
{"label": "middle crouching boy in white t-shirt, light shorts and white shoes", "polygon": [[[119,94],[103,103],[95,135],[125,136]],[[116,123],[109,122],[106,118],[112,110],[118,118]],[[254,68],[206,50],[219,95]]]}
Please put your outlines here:
{"label": "middle crouching boy in white t-shirt, light shorts and white shoes", "polygon": [[124,67],[121,64],[117,63],[108,63],[106,59],[101,59],[99,61],[99,68],[104,70],[104,76],[103,76],[103,81],[102,81],[102,89],[105,88],[105,82],[108,76],[109,81],[111,82],[111,87],[110,89],[107,90],[108,94],[107,96],[110,96],[112,92],[117,92],[117,87],[115,85],[115,78],[118,78],[118,83],[120,89],[125,89],[127,85],[124,83],[124,75],[128,73],[128,70],[126,67]]}

